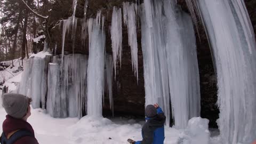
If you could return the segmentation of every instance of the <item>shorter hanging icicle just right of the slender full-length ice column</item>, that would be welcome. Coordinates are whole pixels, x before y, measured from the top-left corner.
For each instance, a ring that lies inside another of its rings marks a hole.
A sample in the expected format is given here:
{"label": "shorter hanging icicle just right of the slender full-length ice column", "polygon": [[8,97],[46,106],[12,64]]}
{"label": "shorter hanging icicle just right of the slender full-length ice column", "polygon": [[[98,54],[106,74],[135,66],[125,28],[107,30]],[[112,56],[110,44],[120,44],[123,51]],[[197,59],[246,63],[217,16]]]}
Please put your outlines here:
{"label": "shorter hanging icicle just right of the slender full-length ice column", "polygon": [[116,77],[116,63],[117,60],[122,65],[122,11],[117,10],[116,7],[113,9],[112,23],[111,23],[111,41],[112,41],[112,52],[113,52],[113,63]]}

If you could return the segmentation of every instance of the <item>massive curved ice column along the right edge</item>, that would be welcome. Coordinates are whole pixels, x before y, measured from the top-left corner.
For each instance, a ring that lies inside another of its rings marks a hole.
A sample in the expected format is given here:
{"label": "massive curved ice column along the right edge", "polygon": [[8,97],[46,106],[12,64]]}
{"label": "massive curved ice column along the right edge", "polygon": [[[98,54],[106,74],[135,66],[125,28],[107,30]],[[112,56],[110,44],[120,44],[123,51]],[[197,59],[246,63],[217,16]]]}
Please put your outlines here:
{"label": "massive curved ice column along the right edge", "polygon": [[256,44],[242,0],[197,1],[209,36],[218,78],[218,125],[223,143],[256,137]]}

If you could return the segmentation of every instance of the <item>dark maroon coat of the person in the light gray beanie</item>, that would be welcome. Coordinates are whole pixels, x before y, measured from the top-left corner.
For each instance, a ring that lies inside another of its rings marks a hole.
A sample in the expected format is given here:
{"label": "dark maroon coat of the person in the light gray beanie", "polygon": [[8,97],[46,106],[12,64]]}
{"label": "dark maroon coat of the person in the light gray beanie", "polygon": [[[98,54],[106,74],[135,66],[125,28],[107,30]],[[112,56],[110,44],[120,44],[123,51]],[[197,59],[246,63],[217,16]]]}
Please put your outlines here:
{"label": "dark maroon coat of the person in the light gray beanie", "polygon": [[[8,137],[7,135],[17,130],[27,130],[31,132],[31,134],[35,135],[32,126],[28,122],[23,121],[23,119],[16,119],[9,115],[6,115],[6,119],[3,122],[3,132],[6,134],[5,136]],[[25,144],[25,143],[38,144],[36,138],[30,137],[30,136],[22,137],[16,142],[14,142],[13,144]]]}

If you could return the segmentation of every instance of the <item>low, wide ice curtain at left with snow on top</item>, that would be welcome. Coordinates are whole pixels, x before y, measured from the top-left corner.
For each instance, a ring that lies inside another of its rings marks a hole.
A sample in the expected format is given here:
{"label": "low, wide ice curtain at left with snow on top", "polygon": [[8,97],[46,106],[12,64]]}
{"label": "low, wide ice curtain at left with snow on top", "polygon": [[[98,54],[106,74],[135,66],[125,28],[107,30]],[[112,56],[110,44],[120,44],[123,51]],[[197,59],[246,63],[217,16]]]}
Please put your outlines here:
{"label": "low, wide ice curtain at left with snow on top", "polygon": [[33,108],[42,107],[53,117],[82,117],[87,108],[87,63],[82,54],[64,55],[62,68],[60,58],[30,57],[18,93],[31,97]]}

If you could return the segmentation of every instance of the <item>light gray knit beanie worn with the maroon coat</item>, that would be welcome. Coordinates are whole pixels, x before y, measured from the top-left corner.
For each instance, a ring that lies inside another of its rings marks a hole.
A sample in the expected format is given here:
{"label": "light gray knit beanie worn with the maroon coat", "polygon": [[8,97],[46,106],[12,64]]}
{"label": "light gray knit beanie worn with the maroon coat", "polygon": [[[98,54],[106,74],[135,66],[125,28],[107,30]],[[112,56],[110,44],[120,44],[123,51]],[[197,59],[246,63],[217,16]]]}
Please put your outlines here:
{"label": "light gray knit beanie worn with the maroon coat", "polygon": [[22,118],[27,113],[28,97],[22,94],[5,93],[2,97],[6,113],[14,118]]}

